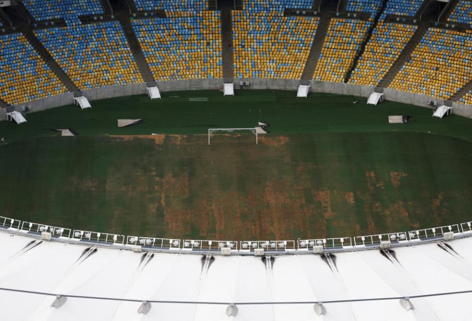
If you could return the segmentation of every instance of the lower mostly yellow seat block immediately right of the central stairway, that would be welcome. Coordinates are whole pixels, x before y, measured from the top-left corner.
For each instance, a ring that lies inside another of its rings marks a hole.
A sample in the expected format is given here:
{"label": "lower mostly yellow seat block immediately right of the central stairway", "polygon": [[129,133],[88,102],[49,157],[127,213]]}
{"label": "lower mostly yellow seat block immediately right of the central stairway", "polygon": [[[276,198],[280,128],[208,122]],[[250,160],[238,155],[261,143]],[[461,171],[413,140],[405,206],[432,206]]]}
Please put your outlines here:
{"label": "lower mostly yellow seat block immediately right of the central stairway", "polygon": [[300,79],[318,25],[314,17],[233,11],[235,77]]}

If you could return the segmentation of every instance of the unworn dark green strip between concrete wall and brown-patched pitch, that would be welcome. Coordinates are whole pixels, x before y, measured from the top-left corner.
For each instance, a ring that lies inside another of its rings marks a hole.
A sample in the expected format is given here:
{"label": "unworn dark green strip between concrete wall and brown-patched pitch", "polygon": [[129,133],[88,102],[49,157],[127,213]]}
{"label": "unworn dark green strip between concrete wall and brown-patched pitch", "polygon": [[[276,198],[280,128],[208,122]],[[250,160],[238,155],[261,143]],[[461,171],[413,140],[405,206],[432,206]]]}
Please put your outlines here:
{"label": "unworn dark green strip between concrete wall and brown-patched pitch", "polygon": [[[81,110],[64,106],[28,115],[28,124],[0,124],[0,137],[9,141],[54,135],[50,129],[73,128],[81,135],[206,134],[209,127],[252,127],[259,120],[272,124],[272,134],[345,132],[431,132],[472,140],[471,120],[433,118],[432,110],[385,102],[366,105],[366,98],[311,93],[296,98],[292,91],[246,90],[236,96],[219,91],[168,92],[161,100],[145,95],[92,102]],[[208,102],[188,98],[207,97]],[[357,104],[353,104],[357,101]],[[410,123],[389,125],[388,115],[413,115]],[[142,118],[140,126],[118,128],[117,119]]]}

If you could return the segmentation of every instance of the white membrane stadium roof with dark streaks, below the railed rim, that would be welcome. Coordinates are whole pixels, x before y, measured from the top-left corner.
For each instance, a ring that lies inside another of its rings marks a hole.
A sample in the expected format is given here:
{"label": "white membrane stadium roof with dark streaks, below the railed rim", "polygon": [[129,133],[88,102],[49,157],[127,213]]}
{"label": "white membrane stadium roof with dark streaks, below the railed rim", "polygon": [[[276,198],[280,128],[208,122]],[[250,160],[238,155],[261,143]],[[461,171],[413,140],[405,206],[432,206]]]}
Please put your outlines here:
{"label": "white membrane stadium roof with dark streaks, below the railed rim", "polygon": [[135,252],[127,245],[47,241],[3,226],[0,319],[466,321],[472,318],[469,235],[387,250],[261,257]]}

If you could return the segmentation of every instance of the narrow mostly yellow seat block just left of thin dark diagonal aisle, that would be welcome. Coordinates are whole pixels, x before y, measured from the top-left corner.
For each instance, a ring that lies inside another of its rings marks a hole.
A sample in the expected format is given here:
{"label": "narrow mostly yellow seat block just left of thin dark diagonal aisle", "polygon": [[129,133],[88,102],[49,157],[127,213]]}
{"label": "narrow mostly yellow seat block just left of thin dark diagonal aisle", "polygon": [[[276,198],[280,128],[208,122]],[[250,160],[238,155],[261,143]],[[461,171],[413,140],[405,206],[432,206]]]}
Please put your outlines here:
{"label": "narrow mostly yellow seat block just left of thin dark diagonal aisle", "polygon": [[313,79],[344,82],[366,41],[371,22],[333,18],[329,22]]}

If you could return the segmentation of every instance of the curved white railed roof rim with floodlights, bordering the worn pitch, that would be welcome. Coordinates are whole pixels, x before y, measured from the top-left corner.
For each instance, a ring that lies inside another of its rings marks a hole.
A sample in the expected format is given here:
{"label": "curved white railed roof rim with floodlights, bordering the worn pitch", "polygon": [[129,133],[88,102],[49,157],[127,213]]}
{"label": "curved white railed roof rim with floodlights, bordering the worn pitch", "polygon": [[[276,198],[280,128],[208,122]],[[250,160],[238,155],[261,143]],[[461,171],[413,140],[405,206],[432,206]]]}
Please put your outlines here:
{"label": "curved white railed roof rim with floodlights, bordering the worn pitch", "polygon": [[3,216],[0,216],[0,231],[25,235],[36,239],[112,247],[133,250],[135,252],[151,251],[212,255],[290,255],[386,249],[390,247],[458,239],[472,236],[472,221],[421,230],[368,236],[263,241],[180,240],[124,236],[110,233],[71,230]]}

